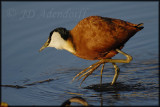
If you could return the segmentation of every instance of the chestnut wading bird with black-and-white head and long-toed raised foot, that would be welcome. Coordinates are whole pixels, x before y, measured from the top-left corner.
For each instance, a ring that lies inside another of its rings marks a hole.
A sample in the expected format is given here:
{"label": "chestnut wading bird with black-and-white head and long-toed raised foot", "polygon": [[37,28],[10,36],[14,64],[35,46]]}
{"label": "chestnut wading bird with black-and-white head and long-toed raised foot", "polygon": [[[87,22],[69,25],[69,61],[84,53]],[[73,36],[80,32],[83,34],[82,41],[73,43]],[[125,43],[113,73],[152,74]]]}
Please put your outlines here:
{"label": "chestnut wading bird with black-and-white head and long-toed raised foot", "polygon": [[[123,52],[122,48],[132,36],[143,28],[143,23],[133,24],[117,18],[88,16],[79,21],[71,30],[64,27],[52,30],[39,52],[46,47],[54,47],[58,50],[67,50],[82,59],[98,60],[72,79],[74,81],[79,77],[78,80],[80,80],[83,77],[80,85],[101,65],[100,83],[102,83],[105,63],[112,63],[115,74],[111,85],[114,85],[120,72],[116,63],[130,63],[133,59],[131,55]],[[112,59],[118,53],[124,55],[126,59]]]}

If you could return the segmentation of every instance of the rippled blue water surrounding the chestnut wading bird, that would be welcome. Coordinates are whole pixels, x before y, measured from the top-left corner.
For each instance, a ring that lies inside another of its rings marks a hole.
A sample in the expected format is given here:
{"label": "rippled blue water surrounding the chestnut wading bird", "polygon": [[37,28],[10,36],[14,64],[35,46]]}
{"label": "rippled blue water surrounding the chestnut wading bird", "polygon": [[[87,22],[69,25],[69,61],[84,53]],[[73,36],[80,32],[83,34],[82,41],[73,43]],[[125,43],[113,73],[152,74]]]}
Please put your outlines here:
{"label": "rippled blue water surrounding the chestnut wading bird", "polygon": [[[144,23],[123,48],[133,60],[118,64],[115,87],[109,86],[114,76],[111,64],[105,64],[101,87],[100,68],[80,87],[81,80],[71,82],[72,78],[95,61],[54,48],[38,52],[51,30],[72,29],[91,15]],[[158,2],[2,2],[1,40],[2,85],[53,79],[27,88],[1,87],[2,101],[9,105],[61,105],[74,96],[98,106],[159,104]]]}

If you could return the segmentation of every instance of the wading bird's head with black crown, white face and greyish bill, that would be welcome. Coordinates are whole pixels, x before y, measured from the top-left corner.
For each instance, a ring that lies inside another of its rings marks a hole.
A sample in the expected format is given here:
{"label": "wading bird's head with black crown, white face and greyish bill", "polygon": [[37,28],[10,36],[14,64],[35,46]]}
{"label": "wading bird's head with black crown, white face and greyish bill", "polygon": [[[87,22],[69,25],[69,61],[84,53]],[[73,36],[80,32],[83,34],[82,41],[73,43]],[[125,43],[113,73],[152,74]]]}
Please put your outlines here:
{"label": "wading bird's head with black crown, white face and greyish bill", "polygon": [[54,47],[56,49],[64,49],[67,45],[67,40],[69,38],[69,31],[65,28],[56,28],[50,32],[48,40],[40,48],[41,52],[46,47]]}

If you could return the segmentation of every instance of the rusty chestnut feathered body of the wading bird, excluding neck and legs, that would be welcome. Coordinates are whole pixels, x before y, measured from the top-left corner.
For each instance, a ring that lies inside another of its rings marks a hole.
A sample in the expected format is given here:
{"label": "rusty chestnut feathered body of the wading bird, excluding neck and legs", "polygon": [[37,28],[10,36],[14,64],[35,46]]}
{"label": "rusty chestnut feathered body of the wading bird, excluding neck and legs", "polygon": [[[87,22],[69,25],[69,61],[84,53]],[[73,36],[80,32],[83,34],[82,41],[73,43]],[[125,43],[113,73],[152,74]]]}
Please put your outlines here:
{"label": "rusty chestnut feathered body of the wading bird, excluding neck and legs", "polygon": [[141,30],[137,26],[120,19],[87,17],[70,30],[75,55],[89,60],[111,58],[117,54],[116,48],[122,48],[130,37]]}

